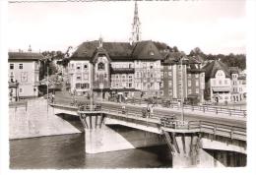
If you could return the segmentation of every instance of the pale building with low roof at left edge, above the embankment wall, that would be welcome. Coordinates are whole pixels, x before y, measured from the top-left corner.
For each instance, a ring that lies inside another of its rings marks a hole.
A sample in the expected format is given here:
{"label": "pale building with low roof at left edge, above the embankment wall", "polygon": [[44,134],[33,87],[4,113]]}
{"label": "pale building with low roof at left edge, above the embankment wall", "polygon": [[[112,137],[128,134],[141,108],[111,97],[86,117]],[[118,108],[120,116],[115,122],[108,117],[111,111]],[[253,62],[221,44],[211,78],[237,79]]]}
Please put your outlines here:
{"label": "pale building with low roof at left edge, above the embankment wall", "polygon": [[9,52],[10,100],[38,96],[41,59],[43,56],[40,53]]}

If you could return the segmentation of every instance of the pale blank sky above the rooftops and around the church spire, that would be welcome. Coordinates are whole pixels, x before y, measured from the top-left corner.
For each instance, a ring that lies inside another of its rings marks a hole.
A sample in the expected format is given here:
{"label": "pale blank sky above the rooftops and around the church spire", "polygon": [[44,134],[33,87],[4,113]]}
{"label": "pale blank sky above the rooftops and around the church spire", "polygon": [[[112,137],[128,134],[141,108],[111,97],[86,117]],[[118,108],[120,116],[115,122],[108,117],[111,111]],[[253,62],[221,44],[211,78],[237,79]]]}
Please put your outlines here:
{"label": "pale blank sky above the rooftops and around the church spire", "polygon": [[[88,40],[129,41],[134,1],[8,4],[8,47],[32,51],[76,48]],[[245,0],[138,2],[142,40],[189,53],[245,53]]]}

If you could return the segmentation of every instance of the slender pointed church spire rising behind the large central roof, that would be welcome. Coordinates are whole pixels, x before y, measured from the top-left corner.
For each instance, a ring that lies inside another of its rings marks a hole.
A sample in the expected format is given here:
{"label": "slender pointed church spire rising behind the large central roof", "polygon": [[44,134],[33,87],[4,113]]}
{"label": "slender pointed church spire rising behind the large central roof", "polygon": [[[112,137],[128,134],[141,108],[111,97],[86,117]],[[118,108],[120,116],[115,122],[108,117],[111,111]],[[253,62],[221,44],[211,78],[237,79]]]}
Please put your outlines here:
{"label": "slender pointed church spire rising behind the large central roof", "polygon": [[135,1],[131,41],[134,43],[134,42],[138,42],[140,40],[141,40],[141,23],[140,23],[139,14],[138,14],[137,1]]}

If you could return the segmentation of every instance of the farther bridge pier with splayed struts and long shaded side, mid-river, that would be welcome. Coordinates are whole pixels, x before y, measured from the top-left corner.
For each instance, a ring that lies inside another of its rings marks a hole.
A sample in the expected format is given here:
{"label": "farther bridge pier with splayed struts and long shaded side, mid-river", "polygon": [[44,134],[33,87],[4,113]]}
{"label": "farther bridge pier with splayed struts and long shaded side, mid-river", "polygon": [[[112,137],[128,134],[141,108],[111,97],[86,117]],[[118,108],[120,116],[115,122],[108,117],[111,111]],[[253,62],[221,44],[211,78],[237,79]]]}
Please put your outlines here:
{"label": "farther bridge pier with splayed struts and long shaded side, mid-river", "polygon": [[105,114],[80,114],[80,119],[85,129],[87,153],[165,145],[159,134],[120,125],[106,126]]}

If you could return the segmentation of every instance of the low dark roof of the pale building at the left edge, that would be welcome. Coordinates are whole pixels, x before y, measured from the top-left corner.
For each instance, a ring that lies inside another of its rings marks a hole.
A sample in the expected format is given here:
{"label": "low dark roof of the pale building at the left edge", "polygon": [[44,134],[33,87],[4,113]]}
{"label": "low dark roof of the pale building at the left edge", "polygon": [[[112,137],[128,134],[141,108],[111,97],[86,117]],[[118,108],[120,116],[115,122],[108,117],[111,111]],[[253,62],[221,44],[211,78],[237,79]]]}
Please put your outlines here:
{"label": "low dark roof of the pale building at the left edge", "polygon": [[40,60],[44,59],[41,53],[37,52],[8,52],[8,60]]}

